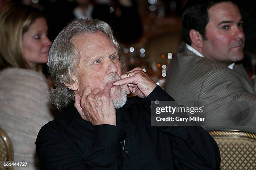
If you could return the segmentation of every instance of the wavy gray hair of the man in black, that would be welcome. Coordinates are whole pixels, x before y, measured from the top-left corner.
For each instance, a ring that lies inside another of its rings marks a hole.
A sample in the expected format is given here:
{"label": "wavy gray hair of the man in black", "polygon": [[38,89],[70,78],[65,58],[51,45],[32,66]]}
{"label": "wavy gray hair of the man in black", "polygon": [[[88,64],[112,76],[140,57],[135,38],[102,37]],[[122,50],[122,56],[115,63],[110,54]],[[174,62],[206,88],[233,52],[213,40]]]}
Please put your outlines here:
{"label": "wavy gray hair of the man in black", "polygon": [[51,88],[51,102],[62,110],[74,98],[74,91],[67,88],[66,84],[72,85],[72,76],[77,76],[75,68],[80,62],[79,50],[73,45],[72,38],[84,34],[103,32],[118,49],[120,62],[120,46],[113,36],[110,26],[100,20],[74,20],[67,25],[56,37],[49,51],[49,73],[54,81],[55,88]]}

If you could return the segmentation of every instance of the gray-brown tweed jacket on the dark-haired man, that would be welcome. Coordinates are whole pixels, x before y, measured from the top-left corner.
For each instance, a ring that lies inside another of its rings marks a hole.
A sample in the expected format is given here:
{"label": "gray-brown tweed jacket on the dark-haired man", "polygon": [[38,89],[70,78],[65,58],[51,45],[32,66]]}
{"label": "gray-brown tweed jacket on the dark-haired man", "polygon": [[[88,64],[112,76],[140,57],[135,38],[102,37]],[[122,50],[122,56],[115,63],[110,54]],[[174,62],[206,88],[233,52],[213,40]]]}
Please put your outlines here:
{"label": "gray-brown tweed jacket on the dark-haired man", "polygon": [[165,90],[178,104],[193,107],[200,101],[207,130],[238,129],[256,133],[256,80],[241,64],[233,70],[179,47],[167,70]]}

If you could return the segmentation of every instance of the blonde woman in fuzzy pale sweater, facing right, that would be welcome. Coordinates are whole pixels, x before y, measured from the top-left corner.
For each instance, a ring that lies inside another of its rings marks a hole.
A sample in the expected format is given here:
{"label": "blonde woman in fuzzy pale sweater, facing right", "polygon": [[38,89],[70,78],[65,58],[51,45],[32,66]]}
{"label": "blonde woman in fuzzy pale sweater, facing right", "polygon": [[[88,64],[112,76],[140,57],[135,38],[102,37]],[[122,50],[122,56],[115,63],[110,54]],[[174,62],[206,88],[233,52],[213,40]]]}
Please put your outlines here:
{"label": "blonde woman in fuzzy pale sweater, facing right", "polygon": [[48,61],[48,27],[40,10],[20,4],[5,6],[0,25],[0,127],[10,137],[14,161],[34,170],[36,135],[52,120],[40,67]]}

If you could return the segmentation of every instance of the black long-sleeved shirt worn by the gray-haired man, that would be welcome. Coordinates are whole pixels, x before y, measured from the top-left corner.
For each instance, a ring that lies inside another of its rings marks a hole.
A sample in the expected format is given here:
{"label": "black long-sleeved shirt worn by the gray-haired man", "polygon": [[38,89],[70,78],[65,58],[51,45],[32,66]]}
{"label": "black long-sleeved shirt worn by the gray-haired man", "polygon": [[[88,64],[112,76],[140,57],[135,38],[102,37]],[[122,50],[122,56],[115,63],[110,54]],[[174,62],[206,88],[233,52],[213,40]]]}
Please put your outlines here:
{"label": "black long-sleeved shirt worn by the gray-haired man", "polygon": [[174,99],[160,86],[144,99],[128,97],[116,110],[117,126],[93,126],[81,118],[72,102],[38,133],[41,169],[218,169],[218,145],[202,127],[151,126],[150,101],[154,100]]}

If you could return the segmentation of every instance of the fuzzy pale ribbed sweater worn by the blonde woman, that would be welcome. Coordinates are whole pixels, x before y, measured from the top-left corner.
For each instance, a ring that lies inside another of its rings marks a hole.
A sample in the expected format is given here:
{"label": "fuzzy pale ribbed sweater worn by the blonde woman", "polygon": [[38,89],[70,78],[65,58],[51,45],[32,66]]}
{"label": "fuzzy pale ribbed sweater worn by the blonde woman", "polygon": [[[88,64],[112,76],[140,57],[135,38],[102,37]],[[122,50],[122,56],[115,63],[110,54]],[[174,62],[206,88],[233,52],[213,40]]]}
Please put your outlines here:
{"label": "fuzzy pale ribbed sweater worn by the blonde woman", "polygon": [[0,127],[10,137],[14,161],[28,162],[28,170],[38,166],[38,131],[52,120],[48,88],[44,75],[36,71],[7,68],[0,72]]}

